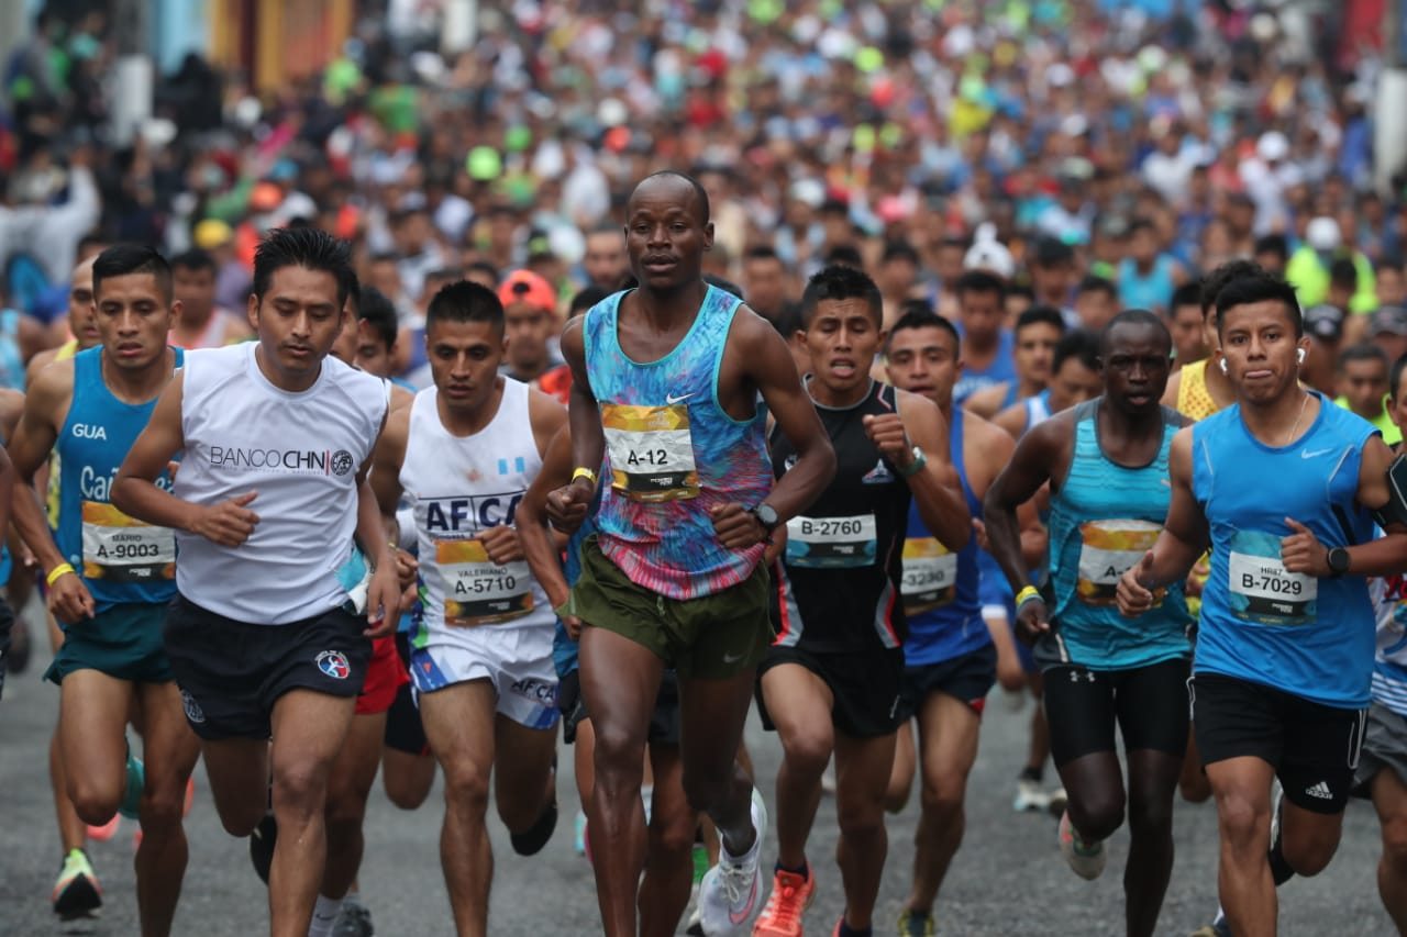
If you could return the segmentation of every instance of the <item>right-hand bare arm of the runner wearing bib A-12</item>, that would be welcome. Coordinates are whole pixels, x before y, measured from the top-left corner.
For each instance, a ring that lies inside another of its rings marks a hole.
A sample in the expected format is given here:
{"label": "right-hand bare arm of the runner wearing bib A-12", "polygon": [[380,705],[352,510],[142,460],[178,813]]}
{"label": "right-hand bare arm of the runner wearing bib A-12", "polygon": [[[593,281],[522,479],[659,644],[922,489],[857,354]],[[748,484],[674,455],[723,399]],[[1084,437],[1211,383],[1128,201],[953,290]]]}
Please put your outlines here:
{"label": "right-hand bare arm of the runner wearing bib A-12", "polygon": [[[836,474],[836,450],[816,407],[802,390],[787,342],[754,312],[734,319],[729,340],[737,342],[743,374],[757,387],[777,426],[796,450],[796,464],[781,477],[767,504],[785,523],[810,506]],[[756,508],[757,505],[746,505]]]}

